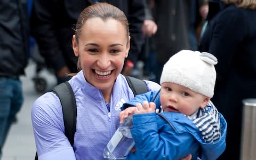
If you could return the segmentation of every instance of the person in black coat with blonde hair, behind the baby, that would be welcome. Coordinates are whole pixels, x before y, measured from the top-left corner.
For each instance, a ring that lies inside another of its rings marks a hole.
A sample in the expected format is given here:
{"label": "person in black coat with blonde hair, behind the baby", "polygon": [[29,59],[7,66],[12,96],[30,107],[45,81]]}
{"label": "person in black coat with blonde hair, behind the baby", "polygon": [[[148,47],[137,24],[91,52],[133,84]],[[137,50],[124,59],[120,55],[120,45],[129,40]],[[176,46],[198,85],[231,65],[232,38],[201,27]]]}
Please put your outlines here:
{"label": "person in black coat with blonde hair, behind the baby", "polygon": [[256,98],[256,0],[211,1],[209,9],[199,51],[218,58],[212,101],[228,123],[227,148],[219,159],[239,159],[242,100]]}

